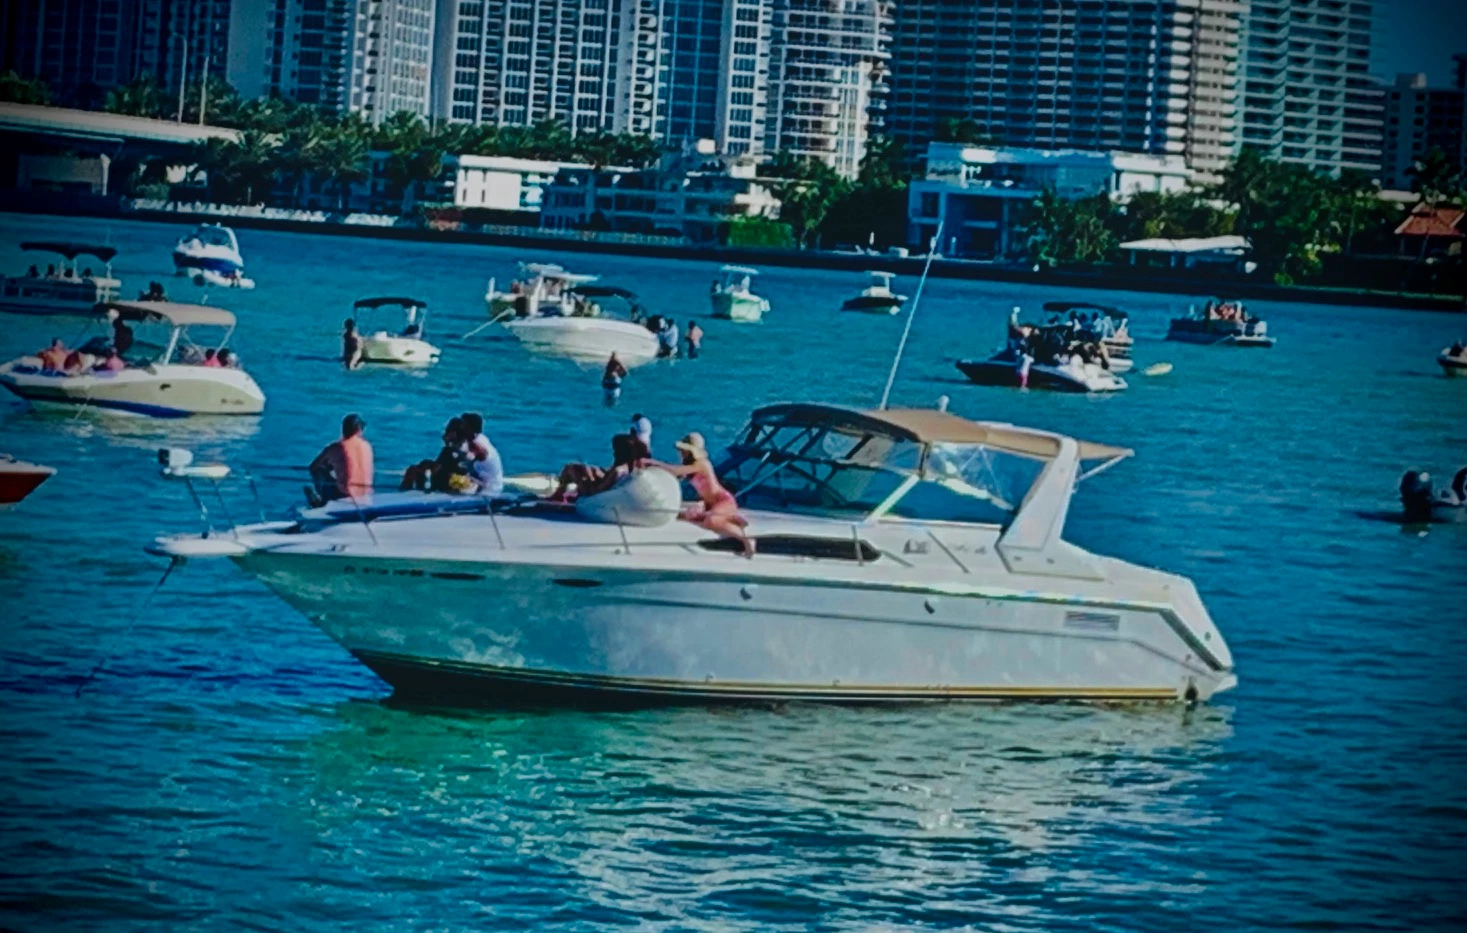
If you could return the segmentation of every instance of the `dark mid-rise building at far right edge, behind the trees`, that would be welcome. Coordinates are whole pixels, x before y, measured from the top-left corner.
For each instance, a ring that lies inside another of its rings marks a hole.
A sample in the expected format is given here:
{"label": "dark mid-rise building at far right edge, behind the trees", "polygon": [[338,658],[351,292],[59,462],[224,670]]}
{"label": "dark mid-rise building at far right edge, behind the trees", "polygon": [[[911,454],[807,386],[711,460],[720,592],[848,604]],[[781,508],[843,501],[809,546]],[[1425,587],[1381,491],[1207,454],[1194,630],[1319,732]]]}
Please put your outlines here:
{"label": "dark mid-rise building at far right edge, behind the trees", "polygon": [[1385,92],[1380,186],[1410,189],[1411,166],[1433,148],[1442,150],[1458,170],[1467,170],[1464,133],[1467,88],[1433,88],[1426,75],[1398,75]]}

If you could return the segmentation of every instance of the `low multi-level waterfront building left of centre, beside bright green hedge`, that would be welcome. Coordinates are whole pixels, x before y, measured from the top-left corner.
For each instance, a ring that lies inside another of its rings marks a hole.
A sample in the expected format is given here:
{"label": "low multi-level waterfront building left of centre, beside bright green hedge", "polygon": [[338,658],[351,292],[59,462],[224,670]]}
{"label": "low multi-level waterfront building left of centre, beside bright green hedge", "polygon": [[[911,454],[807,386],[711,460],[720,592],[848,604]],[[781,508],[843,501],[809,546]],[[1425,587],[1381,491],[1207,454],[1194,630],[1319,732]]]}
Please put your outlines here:
{"label": "low multi-level waterfront building left of centre, beside bright green hedge", "polygon": [[540,226],[711,244],[739,217],[778,217],[779,198],[757,178],[757,161],[713,148],[687,147],[651,169],[565,169],[544,191]]}

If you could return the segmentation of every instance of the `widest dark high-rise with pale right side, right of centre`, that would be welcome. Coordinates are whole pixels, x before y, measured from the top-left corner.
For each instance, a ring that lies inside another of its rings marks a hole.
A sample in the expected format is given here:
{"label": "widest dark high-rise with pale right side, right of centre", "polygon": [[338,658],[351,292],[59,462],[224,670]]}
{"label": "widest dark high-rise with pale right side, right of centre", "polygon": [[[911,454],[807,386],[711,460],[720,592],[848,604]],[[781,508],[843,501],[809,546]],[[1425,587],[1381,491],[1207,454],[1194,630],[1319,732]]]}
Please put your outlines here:
{"label": "widest dark high-rise with pale right side, right of centre", "polygon": [[1184,156],[1237,148],[1241,0],[904,0],[888,123],[912,153],[949,120],[1003,145]]}

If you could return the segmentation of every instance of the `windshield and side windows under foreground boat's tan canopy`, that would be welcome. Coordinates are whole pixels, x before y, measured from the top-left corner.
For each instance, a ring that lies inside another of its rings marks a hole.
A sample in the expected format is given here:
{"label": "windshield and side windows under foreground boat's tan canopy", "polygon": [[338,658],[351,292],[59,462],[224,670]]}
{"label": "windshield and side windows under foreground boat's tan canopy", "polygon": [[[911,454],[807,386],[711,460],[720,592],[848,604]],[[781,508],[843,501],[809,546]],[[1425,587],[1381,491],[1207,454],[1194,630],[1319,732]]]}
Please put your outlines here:
{"label": "windshield and side windows under foreground boat's tan canopy", "polygon": [[986,444],[756,424],[717,472],[748,509],[1006,525],[1045,464]]}

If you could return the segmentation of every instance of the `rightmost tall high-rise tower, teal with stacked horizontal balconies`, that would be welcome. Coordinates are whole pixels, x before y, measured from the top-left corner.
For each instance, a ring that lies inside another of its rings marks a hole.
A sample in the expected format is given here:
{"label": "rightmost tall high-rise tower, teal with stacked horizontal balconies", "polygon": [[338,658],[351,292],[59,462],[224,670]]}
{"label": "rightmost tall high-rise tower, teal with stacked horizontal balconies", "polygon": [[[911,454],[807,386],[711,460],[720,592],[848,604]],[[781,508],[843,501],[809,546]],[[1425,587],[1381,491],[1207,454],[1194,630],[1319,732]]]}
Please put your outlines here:
{"label": "rightmost tall high-rise tower, teal with stacked horizontal balconies", "polygon": [[1367,0],[1251,0],[1243,142],[1338,175],[1380,169],[1382,92],[1370,78]]}

